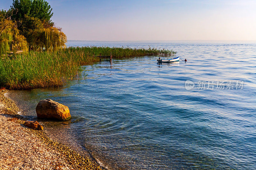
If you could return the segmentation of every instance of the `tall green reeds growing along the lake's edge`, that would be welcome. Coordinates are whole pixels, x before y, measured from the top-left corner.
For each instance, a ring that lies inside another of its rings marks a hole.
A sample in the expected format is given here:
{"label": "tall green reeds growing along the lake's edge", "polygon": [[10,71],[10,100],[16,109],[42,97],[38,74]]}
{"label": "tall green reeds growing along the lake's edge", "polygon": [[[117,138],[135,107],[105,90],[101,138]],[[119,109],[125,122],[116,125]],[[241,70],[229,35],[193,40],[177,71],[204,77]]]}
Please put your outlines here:
{"label": "tall green reeds growing along the lake's edge", "polygon": [[66,48],[57,52],[29,52],[0,59],[0,86],[8,89],[32,89],[62,86],[79,75],[81,65],[99,61],[93,55],[110,55],[113,58],[157,55],[175,52],[157,49],[82,47]]}

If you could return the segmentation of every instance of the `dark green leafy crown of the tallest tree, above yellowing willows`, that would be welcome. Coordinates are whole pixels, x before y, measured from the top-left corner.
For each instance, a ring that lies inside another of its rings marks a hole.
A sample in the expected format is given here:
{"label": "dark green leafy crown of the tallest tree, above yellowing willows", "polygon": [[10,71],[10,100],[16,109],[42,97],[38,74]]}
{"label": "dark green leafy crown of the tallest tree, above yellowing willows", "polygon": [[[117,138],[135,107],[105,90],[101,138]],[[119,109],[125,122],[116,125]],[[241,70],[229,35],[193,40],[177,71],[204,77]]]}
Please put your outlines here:
{"label": "dark green leafy crown of the tallest tree, above yellowing willows", "polygon": [[38,18],[51,22],[52,8],[48,2],[44,0],[13,0],[12,8],[17,9],[18,12],[15,15],[17,21],[25,18],[25,15],[29,17]]}

